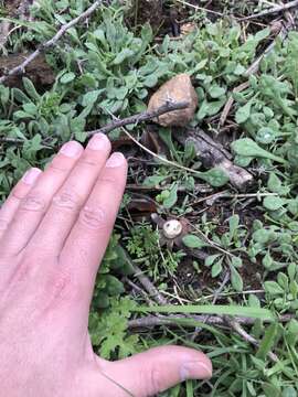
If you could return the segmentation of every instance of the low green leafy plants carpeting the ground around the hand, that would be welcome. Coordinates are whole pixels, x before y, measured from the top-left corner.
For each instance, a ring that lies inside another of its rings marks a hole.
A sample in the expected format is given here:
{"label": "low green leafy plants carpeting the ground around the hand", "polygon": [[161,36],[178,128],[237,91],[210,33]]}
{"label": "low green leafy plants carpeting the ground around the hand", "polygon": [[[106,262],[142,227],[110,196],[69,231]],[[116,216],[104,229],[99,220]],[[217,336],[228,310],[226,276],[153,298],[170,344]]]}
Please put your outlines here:
{"label": "low green leafy plants carpeting the ground around the hand", "polygon": [[[151,161],[136,147],[130,185],[156,200],[162,218],[188,221],[187,233],[173,249],[162,245],[162,232],[149,222],[137,222],[130,211],[136,189],[127,192],[117,234],[96,279],[89,331],[95,350],[111,360],[164,343],[181,343],[209,354],[214,365],[209,383],[189,382],[162,396],[297,397],[298,34],[290,32],[287,40],[277,40],[260,62],[259,73],[248,78],[247,88],[233,93],[246,82],[245,72],[256,54],[264,53],[270,42],[269,29],[258,31],[257,24],[249,24],[244,31],[228,19],[211,23],[207,12],[196,12],[192,20],[198,26],[190,34],[156,40],[149,24],[140,29],[126,25],[127,8],[121,3],[109,2],[45,52],[55,76],[52,86],[34,86],[26,77],[19,88],[0,85],[0,200],[28,168],[44,168],[64,141],[72,138],[84,143],[86,130],[104,126],[114,116],[145,110],[151,93],[178,73],[191,75],[199,97],[191,125],[206,132],[217,131],[222,109],[233,97],[235,106],[227,118],[235,124],[227,127],[237,129],[231,148],[234,162],[254,176],[251,191],[238,194],[232,190],[226,174],[203,168],[193,146],[183,148],[170,129],[161,128],[158,139],[169,150],[168,160],[184,169],[156,158]],[[3,53],[32,51],[89,4],[88,0],[40,0],[31,7],[32,22],[13,20],[3,4],[1,20],[19,26],[11,30]],[[210,4],[220,12],[236,10],[238,15],[270,7],[234,0]],[[182,11],[179,21],[185,19],[181,2],[170,0],[166,6]],[[128,128],[136,139],[143,131],[140,125]],[[221,137],[232,140],[225,131],[219,131]],[[110,133],[116,143],[120,132]],[[219,189],[223,185],[225,191]],[[143,216],[150,218],[147,212]],[[180,270],[185,267],[192,272],[194,259],[200,272],[188,285],[192,293],[184,293]],[[163,315],[172,311],[187,318],[170,319],[171,323],[146,332],[129,330],[130,313],[146,315],[142,293],[137,297],[140,308],[132,293],[124,298],[129,293],[124,277],[131,277],[131,261],[173,303],[171,310],[160,308]],[[226,272],[231,277],[223,286]],[[259,292],[263,290],[265,293]],[[188,302],[204,321],[190,318]],[[265,312],[259,311],[263,309]],[[264,316],[246,321],[252,312],[267,313],[274,321],[267,323]],[[258,346],[226,324],[209,324],[214,314],[244,316],[243,328]],[[292,319],[283,318],[281,323],[283,314]],[[277,362],[270,361],[270,352]]]}

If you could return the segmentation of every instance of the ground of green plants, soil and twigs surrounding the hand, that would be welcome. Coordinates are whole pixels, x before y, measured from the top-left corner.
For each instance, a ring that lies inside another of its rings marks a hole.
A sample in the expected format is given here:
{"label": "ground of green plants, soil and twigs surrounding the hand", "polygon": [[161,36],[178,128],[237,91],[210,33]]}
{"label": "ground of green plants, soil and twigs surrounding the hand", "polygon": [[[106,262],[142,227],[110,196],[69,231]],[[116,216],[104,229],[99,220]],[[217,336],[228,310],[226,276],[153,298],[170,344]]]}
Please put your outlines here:
{"label": "ground of green plants, soil and twigs surrounding the hand", "polygon": [[[298,1],[99,3],[0,2],[0,201],[108,125],[129,173],[95,351],[177,343],[212,358],[211,380],[162,397],[297,397]],[[181,74],[195,109],[161,126],[148,103]]]}

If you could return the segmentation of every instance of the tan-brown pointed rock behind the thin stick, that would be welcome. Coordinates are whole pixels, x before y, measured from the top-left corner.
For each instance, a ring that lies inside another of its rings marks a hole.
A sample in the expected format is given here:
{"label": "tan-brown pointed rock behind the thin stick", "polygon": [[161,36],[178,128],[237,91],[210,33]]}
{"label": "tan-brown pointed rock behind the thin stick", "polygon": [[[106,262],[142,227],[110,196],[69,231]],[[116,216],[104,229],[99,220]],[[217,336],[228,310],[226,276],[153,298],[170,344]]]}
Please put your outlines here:
{"label": "tan-brown pointed rock behind the thin stick", "polygon": [[167,101],[181,103],[185,100],[190,104],[188,108],[167,112],[159,116],[155,121],[163,127],[184,127],[193,119],[198,106],[198,96],[191,84],[190,76],[182,73],[164,83],[152,95],[149,100],[148,111],[157,110]]}

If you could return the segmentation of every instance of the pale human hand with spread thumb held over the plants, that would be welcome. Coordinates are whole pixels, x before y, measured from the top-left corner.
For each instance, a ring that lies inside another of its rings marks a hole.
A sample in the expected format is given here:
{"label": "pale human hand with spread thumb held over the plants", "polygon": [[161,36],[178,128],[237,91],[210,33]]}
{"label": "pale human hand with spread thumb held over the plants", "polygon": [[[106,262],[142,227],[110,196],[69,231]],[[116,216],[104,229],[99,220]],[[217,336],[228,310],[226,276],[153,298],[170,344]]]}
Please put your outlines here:
{"label": "pale human hand with spread thumb held over the plants", "polygon": [[1,396],[147,397],[211,377],[210,360],[191,348],[115,363],[93,352],[89,303],[126,173],[123,154],[96,135],[85,150],[65,143],[45,171],[29,170],[2,205]]}

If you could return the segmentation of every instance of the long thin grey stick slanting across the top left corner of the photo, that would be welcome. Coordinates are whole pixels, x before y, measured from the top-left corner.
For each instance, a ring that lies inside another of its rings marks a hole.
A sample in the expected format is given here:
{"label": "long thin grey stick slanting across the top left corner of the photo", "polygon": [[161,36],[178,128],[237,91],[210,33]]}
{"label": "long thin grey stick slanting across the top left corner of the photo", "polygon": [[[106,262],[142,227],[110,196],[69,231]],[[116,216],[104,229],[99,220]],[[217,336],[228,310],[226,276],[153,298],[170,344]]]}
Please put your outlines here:
{"label": "long thin grey stick slanting across the top left corner of the photo", "polygon": [[0,77],[0,84],[4,83],[8,77],[17,74],[24,73],[25,67],[34,61],[42,52],[45,50],[54,46],[57,41],[75,24],[77,24],[81,21],[84,21],[87,19],[100,4],[103,3],[103,0],[95,1],[85,12],[70,21],[68,23],[65,23],[61,26],[61,29],[57,31],[57,33],[47,42],[41,44],[38,50],[35,50],[32,54],[30,54],[24,62],[22,62],[19,66],[13,67],[11,71],[9,71],[7,74],[4,74],[2,77]]}

